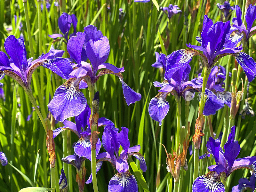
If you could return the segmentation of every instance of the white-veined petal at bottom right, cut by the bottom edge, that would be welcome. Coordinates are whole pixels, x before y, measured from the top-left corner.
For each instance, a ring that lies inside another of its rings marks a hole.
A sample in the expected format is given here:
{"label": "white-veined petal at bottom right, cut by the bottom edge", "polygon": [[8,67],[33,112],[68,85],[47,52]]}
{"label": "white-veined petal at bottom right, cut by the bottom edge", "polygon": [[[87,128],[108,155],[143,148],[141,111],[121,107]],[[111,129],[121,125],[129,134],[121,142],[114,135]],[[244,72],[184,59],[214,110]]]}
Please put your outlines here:
{"label": "white-veined petal at bottom right, cut by the bottom edge", "polygon": [[192,192],[225,192],[225,187],[220,181],[220,175],[210,171],[196,178],[193,182]]}

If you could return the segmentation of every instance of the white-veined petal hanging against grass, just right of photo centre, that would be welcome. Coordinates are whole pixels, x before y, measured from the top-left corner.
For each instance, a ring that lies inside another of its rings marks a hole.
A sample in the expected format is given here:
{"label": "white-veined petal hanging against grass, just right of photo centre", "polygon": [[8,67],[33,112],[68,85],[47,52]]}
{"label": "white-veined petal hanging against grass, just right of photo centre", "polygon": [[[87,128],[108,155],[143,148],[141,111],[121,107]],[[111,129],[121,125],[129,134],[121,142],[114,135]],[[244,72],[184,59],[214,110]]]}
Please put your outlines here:
{"label": "white-veined petal hanging against grass, just right of photo centre", "polygon": [[169,103],[166,101],[166,97],[170,92],[159,92],[155,97],[153,97],[148,106],[149,116],[158,121],[161,126],[162,120],[169,111]]}

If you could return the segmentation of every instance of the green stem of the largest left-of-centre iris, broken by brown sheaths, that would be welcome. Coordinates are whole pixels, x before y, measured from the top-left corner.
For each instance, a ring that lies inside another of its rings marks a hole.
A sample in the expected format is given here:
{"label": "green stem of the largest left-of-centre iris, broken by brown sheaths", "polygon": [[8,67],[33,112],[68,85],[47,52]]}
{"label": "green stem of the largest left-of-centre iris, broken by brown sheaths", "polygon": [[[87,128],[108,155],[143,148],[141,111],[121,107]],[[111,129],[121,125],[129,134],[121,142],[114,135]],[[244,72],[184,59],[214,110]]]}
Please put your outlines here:
{"label": "green stem of the largest left-of-centre iris, broken by brown sheaths", "polygon": [[[94,84],[91,86],[88,84],[88,89],[89,89],[89,97],[90,97],[90,106],[91,106],[91,114],[92,114],[92,101],[94,98]],[[97,131],[97,126],[92,126],[91,127],[91,134]],[[98,192],[98,185],[97,185],[97,177],[96,177],[96,150],[91,149],[91,155],[92,155],[92,185],[93,185],[93,190],[94,192]]]}

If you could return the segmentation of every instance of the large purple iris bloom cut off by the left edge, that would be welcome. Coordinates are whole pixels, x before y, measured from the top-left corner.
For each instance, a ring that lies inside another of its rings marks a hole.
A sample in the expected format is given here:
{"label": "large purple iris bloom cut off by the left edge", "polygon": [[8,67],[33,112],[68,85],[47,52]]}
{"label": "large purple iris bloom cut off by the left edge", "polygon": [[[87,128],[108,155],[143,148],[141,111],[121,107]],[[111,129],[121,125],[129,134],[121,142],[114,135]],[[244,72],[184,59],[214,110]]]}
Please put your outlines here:
{"label": "large purple iris bloom cut off by the left edge", "polygon": [[23,39],[16,39],[13,35],[5,39],[4,48],[11,59],[0,51],[0,80],[4,78],[4,75],[10,76],[25,90],[31,89],[32,74],[41,65],[64,79],[67,79],[69,73],[73,70],[68,60],[64,58],[49,59],[49,53],[36,60],[33,60],[32,57],[27,60]]}

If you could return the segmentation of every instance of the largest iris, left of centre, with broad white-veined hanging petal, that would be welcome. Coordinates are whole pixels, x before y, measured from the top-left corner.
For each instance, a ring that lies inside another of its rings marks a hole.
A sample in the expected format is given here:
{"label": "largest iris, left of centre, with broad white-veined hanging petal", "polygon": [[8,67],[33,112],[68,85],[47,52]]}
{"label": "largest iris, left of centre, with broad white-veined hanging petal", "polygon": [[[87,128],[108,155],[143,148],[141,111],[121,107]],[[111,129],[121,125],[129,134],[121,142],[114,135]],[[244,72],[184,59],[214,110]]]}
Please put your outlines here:
{"label": "largest iris, left of centre, with broad white-veined hanging petal", "polygon": [[[130,105],[141,99],[140,93],[134,92],[125,82],[122,75],[123,68],[105,63],[109,54],[109,41],[100,30],[93,25],[84,28],[84,33],[77,32],[76,37],[68,40],[67,50],[76,61],[76,67],[68,76],[70,79],[57,88],[52,101],[48,104],[49,110],[55,119],[63,122],[68,117],[79,115],[86,106],[86,98],[79,89],[94,86],[99,77],[113,74],[119,77],[126,103]],[[85,62],[86,58],[91,64]],[[82,59],[84,58],[84,59]],[[98,75],[98,70],[101,70]],[[89,88],[90,88],[89,87]]]}

